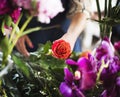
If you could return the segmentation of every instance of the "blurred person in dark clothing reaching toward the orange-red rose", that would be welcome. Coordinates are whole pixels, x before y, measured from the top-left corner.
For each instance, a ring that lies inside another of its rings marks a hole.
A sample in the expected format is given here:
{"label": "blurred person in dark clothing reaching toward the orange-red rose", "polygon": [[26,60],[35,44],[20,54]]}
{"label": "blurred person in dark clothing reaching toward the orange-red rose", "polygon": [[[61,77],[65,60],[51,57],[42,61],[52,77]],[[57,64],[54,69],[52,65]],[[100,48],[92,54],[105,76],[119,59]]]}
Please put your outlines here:
{"label": "blurred person in dark clothing reaching toward the orange-red rose", "polygon": [[[41,26],[43,28],[60,25],[58,28],[40,30],[19,38],[16,44],[17,50],[24,56],[38,49],[39,43],[63,39],[70,43],[71,51],[81,51],[79,35],[83,31],[86,21],[90,18],[89,11],[83,0],[61,0],[64,12],[59,13],[49,24],[43,24],[33,18],[28,28]],[[24,20],[23,20],[24,21]],[[77,41],[76,41],[77,40]]]}

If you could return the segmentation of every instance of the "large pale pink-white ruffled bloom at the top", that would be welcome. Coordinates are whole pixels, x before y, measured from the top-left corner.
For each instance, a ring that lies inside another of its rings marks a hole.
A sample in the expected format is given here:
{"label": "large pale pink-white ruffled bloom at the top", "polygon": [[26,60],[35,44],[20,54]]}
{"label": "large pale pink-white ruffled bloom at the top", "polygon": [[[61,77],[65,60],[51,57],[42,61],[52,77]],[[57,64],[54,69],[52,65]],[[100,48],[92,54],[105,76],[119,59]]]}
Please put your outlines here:
{"label": "large pale pink-white ruffled bloom at the top", "polygon": [[50,19],[64,11],[61,0],[38,0],[38,3],[38,20],[42,23],[50,23]]}

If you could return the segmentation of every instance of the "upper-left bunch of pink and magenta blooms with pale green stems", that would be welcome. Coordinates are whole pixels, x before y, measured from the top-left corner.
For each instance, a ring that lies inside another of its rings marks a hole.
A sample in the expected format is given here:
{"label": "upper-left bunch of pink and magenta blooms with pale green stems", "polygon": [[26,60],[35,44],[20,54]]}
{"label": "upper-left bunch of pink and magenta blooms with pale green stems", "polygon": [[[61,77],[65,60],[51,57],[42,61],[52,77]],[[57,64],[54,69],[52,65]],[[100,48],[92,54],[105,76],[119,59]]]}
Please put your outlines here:
{"label": "upper-left bunch of pink and magenta blooms with pale green stems", "polygon": [[[31,19],[38,17],[40,22],[50,23],[50,19],[55,17],[59,12],[64,11],[64,8],[60,0],[1,0],[0,2],[0,20],[2,21],[0,24],[0,47],[3,52],[2,67],[4,68],[8,55],[12,53],[17,40],[22,35],[41,29],[40,27],[36,27],[26,30],[25,28]],[[26,14],[27,20],[20,28],[18,25],[22,14]]]}

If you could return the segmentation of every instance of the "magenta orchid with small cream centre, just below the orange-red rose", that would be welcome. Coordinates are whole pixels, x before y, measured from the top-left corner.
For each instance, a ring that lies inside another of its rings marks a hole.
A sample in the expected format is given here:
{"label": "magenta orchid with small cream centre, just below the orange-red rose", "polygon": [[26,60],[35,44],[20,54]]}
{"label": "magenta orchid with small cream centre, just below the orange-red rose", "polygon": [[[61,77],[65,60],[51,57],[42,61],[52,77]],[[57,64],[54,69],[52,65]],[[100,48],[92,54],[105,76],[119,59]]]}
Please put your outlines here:
{"label": "magenta orchid with small cream centre, just below the orange-red rose", "polygon": [[65,82],[60,85],[61,94],[64,97],[84,97],[83,92],[94,87],[96,83],[96,64],[93,57],[80,58],[77,62],[67,59],[66,64],[74,68],[74,75],[65,69]]}

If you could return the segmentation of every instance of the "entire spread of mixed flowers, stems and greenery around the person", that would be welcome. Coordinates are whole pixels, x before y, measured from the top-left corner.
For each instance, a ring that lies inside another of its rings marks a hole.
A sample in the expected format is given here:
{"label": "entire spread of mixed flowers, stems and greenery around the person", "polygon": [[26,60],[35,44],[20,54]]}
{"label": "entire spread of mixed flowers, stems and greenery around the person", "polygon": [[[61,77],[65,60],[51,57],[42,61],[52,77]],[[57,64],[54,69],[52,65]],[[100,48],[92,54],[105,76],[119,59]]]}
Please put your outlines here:
{"label": "entire spread of mixed flowers, stems and greenery around the person", "polygon": [[[52,10],[54,4],[48,3],[52,1],[58,8],[55,11]],[[96,0],[99,13],[99,20],[96,21],[100,23],[101,43],[93,51],[75,53],[71,52],[69,43],[64,40],[54,43],[48,41],[44,45],[40,44],[39,49],[31,53],[29,58],[24,58],[12,50],[20,36],[41,29],[25,31],[32,17],[38,16],[40,22],[49,23],[51,18],[64,9],[59,0],[1,0],[0,19],[3,22],[0,47],[3,55],[0,96],[119,97],[120,42],[112,44],[110,37],[111,27],[119,23],[120,5],[117,0],[116,6],[112,7],[111,1],[105,1],[105,15],[101,18],[99,0]],[[19,28],[23,9],[30,16]],[[11,32],[9,37],[6,29]]]}

